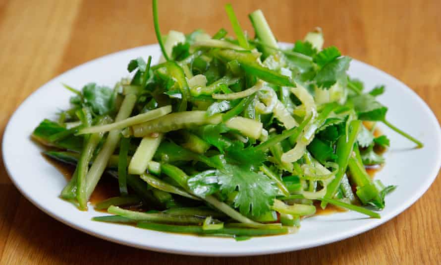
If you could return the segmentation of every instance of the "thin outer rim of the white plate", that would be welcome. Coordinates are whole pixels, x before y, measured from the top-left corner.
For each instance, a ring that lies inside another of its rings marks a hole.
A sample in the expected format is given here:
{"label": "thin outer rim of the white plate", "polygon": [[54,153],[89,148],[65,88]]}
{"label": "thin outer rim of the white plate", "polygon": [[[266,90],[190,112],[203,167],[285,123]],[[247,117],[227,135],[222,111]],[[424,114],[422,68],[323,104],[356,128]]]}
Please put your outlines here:
{"label": "thin outer rim of the white plate", "polygon": [[[289,43],[279,43],[282,46],[289,46],[292,44]],[[121,50],[121,51],[117,51],[108,55],[104,55],[98,58],[95,58],[93,60],[87,61],[79,66],[75,66],[65,72],[62,72],[60,74],[58,74],[57,76],[51,78],[51,80],[49,80],[48,82],[46,82],[45,84],[41,85],[38,89],[36,89],[35,91],[33,91],[29,96],[26,97],[25,100],[23,100],[22,103],[20,103],[20,105],[14,110],[13,114],[10,116],[7,125],[4,129],[4,133],[3,133],[3,139],[2,139],[2,157],[3,157],[3,164],[5,167],[5,170],[7,172],[7,175],[9,177],[9,179],[11,180],[11,182],[13,183],[13,185],[19,190],[20,194],[23,195],[23,197],[25,197],[27,200],[29,200],[33,205],[35,205],[37,208],[39,208],[40,210],[42,210],[43,212],[45,212],[46,214],[48,214],[49,216],[51,216],[52,218],[54,218],[55,220],[60,221],[61,223],[68,225],[74,229],[77,229],[79,231],[82,231],[86,234],[104,239],[104,240],[108,240],[110,242],[113,243],[117,243],[117,244],[121,244],[121,245],[125,245],[125,246],[130,246],[130,247],[135,247],[135,248],[139,248],[139,249],[145,249],[145,250],[151,250],[151,251],[158,251],[158,252],[163,252],[163,253],[173,253],[173,254],[183,254],[183,255],[192,255],[192,256],[225,256],[225,257],[238,257],[238,256],[256,256],[256,255],[264,255],[264,254],[276,254],[276,253],[284,253],[284,252],[289,252],[289,251],[295,251],[295,250],[301,250],[301,249],[307,249],[307,248],[312,248],[312,247],[317,247],[317,246],[322,246],[322,245],[326,245],[329,243],[333,243],[333,242],[338,242],[356,235],[359,235],[361,233],[367,232],[369,230],[372,230],[375,227],[378,227],[381,224],[386,223],[387,221],[389,221],[390,219],[396,217],[397,215],[399,215],[401,212],[403,212],[404,210],[406,210],[408,207],[410,207],[411,205],[413,205],[418,199],[420,199],[425,193],[426,191],[430,188],[430,186],[432,185],[432,183],[435,181],[436,177],[438,176],[438,172],[440,171],[440,167],[441,167],[441,148],[437,149],[437,153],[435,154],[437,156],[437,160],[438,160],[438,165],[434,165],[433,169],[431,170],[431,173],[429,175],[429,178],[424,182],[423,185],[421,185],[420,189],[418,190],[418,193],[415,193],[415,195],[411,198],[408,199],[405,204],[400,205],[399,207],[395,207],[394,210],[389,213],[386,217],[382,217],[381,219],[378,219],[376,221],[373,222],[369,222],[365,225],[362,225],[356,229],[350,230],[348,232],[342,232],[340,233],[338,236],[334,236],[334,237],[330,237],[327,238],[326,240],[322,240],[322,241],[317,241],[315,243],[312,244],[308,244],[308,245],[303,245],[301,247],[292,247],[292,246],[268,246],[266,249],[264,250],[259,250],[259,251],[254,251],[254,250],[247,250],[245,252],[236,252],[233,250],[226,250],[223,251],[222,249],[219,249],[217,251],[186,251],[184,249],[184,247],[175,247],[174,245],[170,245],[168,248],[163,248],[163,247],[156,247],[151,241],[151,243],[149,244],[149,241],[145,241],[143,242],[144,244],[140,244],[140,243],[134,243],[134,242],[129,242],[123,239],[118,238],[117,236],[112,236],[112,235],[103,235],[100,233],[97,233],[95,231],[93,231],[92,229],[89,229],[88,227],[83,227],[79,224],[77,224],[75,221],[71,221],[68,219],[63,218],[62,216],[59,216],[56,214],[56,212],[51,211],[49,208],[45,208],[44,205],[41,205],[40,203],[38,203],[38,201],[34,200],[28,193],[26,193],[23,190],[23,187],[20,185],[20,183],[18,182],[18,180],[14,177],[12,177],[11,174],[11,169],[9,168],[10,166],[8,165],[8,159],[7,159],[7,150],[6,150],[6,145],[5,142],[6,140],[9,138],[8,135],[10,134],[10,127],[11,127],[11,121],[14,120],[15,116],[17,115],[18,111],[21,108],[24,108],[24,106],[27,104],[28,101],[32,100],[33,97],[35,97],[40,91],[42,91],[41,88],[48,86],[51,82],[53,82],[55,79],[58,79],[61,75],[67,74],[73,70],[77,70],[83,67],[87,67],[90,64],[93,64],[96,61],[100,61],[103,59],[106,59],[108,57],[112,57],[112,56],[117,56],[120,53],[125,53],[125,52],[130,52],[130,51],[135,51],[137,49],[144,49],[144,48],[150,48],[150,49],[155,49],[158,48],[158,44],[150,44],[150,45],[144,45],[144,46],[139,46],[139,47],[134,47],[134,48],[130,48],[130,49],[126,49],[126,50]],[[418,103],[422,106],[424,106],[424,110],[423,112],[426,114],[429,114],[429,119],[434,122],[435,124],[438,124],[438,127],[440,127],[440,124],[438,122],[438,119],[436,118],[435,114],[433,113],[433,111],[430,109],[430,107],[427,105],[427,103],[415,92],[413,91],[411,88],[409,88],[406,84],[404,84],[403,82],[401,82],[400,80],[398,80],[397,78],[395,78],[394,76],[384,72],[383,70],[368,65],[364,62],[361,62],[359,60],[353,59],[353,62],[356,62],[357,64],[362,65],[363,67],[368,67],[371,68],[373,70],[376,71],[380,71],[382,74],[384,74],[385,76],[387,76],[388,78],[391,78],[394,82],[397,82],[399,84],[402,85],[403,89],[406,90],[406,92],[410,92],[412,94],[412,97],[415,98]],[[400,88],[401,89],[401,88]],[[441,142],[441,128],[440,130],[438,130],[437,135],[437,141]]]}

